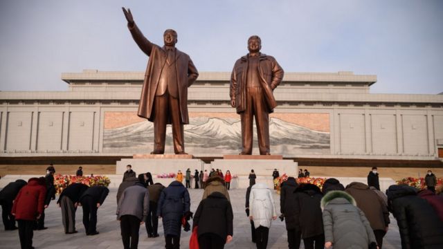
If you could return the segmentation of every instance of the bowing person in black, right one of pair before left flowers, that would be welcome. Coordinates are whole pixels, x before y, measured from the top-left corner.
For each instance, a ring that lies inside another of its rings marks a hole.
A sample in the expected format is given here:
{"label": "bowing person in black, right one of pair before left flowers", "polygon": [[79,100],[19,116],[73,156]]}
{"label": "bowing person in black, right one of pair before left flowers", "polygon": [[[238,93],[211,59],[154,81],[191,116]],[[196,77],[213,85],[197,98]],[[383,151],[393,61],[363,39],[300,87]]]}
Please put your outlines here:
{"label": "bowing person in black, right one of pair before left flowers", "polygon": [[80,196],[83,208],[83,225],[87,235],[96,235],[97,232],[97,210],[103,205],[109,190],[104,186],[89,187]]}

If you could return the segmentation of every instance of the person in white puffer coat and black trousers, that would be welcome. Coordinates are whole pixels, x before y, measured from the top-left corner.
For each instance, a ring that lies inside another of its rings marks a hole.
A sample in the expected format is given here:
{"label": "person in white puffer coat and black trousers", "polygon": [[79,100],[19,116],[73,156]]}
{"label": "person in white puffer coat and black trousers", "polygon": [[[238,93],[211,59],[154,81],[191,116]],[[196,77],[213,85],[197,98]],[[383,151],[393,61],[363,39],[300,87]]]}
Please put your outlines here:
{"label": "person in white puffer coat and black trousers", "polygon": [[264,183],[257,183],[251,188],[249,219],[253,221],[255,226],[257,249],[266,248],[271,221],[277,219],[277,212],[275,211],[273,194]]}

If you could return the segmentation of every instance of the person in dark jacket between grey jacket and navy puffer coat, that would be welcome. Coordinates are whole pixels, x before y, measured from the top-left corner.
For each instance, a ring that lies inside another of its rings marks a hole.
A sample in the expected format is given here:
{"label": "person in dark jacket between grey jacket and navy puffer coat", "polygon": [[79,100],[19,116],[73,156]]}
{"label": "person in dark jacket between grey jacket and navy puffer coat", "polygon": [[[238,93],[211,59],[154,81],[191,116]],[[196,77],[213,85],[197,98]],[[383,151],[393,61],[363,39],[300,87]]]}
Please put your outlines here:
{"label": "person in dark jacket between grey jacket and navy puffer coat", "polygon": [[147,220],[145,223],[148,238],[159,237],[159,216],[157,216],[157,203],[159,203],[160,194],[165,189],[161,183],[147,186],[147,191],[150,193],[150,210],[147,213]]}

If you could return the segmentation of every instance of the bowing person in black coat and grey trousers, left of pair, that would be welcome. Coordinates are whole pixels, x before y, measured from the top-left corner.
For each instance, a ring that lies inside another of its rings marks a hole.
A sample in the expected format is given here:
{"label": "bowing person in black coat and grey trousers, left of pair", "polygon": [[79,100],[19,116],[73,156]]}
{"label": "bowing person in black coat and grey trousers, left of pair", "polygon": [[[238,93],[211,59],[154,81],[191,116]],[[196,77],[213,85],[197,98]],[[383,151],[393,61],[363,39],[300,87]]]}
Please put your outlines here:
{"label": "bowing person in black coat and grey trousers, left of pair", "polygon": [[62,222],[64,233],[73,234],[75,230],[75,211],[79,203],[80,196],[88,189],[83,183],[73,183],[66,187],[60,194],[57,204],[62,208]]}

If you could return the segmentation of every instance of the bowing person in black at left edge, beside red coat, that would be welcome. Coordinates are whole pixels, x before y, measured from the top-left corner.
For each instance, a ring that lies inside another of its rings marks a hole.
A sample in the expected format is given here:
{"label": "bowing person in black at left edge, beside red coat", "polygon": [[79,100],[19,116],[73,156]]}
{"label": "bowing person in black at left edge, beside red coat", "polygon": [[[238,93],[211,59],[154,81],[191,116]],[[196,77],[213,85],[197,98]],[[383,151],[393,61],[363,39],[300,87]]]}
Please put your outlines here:
{"label": "bowing person in black at left edge, beside red coat", "polygon": [[8,185],[0,191],[1,218],[3,219],[5,230],[17,229],[15,226],[15,216],[11,214],[12,201],[15,200],[21,188],[26,184],[26,181],[19,179],[15,182],[8,183]]}

